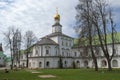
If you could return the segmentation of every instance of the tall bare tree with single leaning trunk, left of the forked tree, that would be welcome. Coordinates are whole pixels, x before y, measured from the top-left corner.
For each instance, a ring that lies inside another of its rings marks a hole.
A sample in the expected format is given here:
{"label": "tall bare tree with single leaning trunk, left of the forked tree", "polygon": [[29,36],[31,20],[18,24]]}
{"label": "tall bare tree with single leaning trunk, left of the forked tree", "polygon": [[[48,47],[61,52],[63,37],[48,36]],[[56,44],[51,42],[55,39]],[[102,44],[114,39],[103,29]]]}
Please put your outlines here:
{"label": "tall bare tree with single leaning trunk, left of the forked tree", "polygon": [[[97,65],[97,58],[94,53],[93,48],[93,36],[95,35],[95,28],[91,21],[91,9],[92,9],[92,0],[79,0],[79,4],[76,6],[77,15],[77,25],[76,29],[79,32],[79,40],[83,41],[84,47],[86,47],[86,40],[87,40],[87,46],[90,46],[91,55],[93,58],[93,62],[95,64],[95,71],[98,71],[98,65]],[[84,40],[83,40],[84,39]]]}

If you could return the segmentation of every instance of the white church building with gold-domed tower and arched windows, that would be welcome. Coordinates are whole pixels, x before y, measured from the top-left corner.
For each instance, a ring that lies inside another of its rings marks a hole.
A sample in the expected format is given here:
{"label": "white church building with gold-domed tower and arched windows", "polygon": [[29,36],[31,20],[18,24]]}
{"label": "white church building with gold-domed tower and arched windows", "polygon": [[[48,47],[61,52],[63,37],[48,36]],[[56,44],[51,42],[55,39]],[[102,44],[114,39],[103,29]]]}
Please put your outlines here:
{"label": "white church building with gold-domed tower and arched windows", "polygon": [[[32,46],[29,53],[29,68],[82,68],[94,67],[90,51],[84,53],[82,47],[74,47],[74,38],[62,32],[60,15],[58,12],[54,16],[55,23],[52,25],[52,33],[42,37],[40,41]],[[111,45],[108,45],[109,49]],[[116,44],[117,51],[111,61],[112,67],[120,68],[120,44]],[[111,49],[110,49],[111,51]],[[107,61],[102,50],[96,53],[98,67],[106,68]],[[26,55],[21,55],[20,64],[26,65]]]}

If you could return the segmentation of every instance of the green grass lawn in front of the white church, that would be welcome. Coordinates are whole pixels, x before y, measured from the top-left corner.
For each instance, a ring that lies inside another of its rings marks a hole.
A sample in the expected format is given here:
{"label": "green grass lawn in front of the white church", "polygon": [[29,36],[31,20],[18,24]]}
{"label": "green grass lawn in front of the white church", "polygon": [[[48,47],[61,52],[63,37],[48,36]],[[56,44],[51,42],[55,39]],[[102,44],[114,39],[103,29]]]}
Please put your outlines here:
{"label": "green grass lawn in front of the white church", "polygon": [[[41,69],[33,74],[30,71],[19,70],[4,73],[0,71],[0,80],[120,80],[120,70],[100,70],[95,72],[92,69]],[[39,78],[38,75],[54,75],[55,78]]]}

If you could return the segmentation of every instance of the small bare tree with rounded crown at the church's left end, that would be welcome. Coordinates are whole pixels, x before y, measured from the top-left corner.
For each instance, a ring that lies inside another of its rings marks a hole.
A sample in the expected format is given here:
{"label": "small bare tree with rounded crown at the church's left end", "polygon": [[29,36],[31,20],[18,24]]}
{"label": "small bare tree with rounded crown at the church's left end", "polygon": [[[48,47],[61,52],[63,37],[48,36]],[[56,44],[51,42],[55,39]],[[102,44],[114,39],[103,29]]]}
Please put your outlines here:
{"label": "small bare tree with rounded crown at the church's left end", "polygon": [[24,35],[24,44],[25,44],[25,48],[26,48],[26,67],[28,67],[28,55],[30,53],[30,47],[34,44],[34,42],[37,40],[37,38],[35,37],[34,33],[32,31],[27,31]]}

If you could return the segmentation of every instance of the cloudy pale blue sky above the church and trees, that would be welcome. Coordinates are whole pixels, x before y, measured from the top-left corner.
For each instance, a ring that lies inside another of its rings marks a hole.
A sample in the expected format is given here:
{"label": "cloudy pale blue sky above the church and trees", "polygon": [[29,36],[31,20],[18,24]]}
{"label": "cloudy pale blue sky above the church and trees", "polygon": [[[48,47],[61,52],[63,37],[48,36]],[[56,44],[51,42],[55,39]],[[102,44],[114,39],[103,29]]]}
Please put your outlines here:
{"label": "cloudy pale blue sky above the church and trees", "polygon": [[[56,8],[61,16],[63,33],[76,37],[73,27],[77,3],[78,0],[0,0],[0,43],[5,46],[3,32],[10,26],[20,28],[22,32],[32,30],[38,38],[50,34]],[[109,3],[119,25],[120,0],[109,0]]]}

